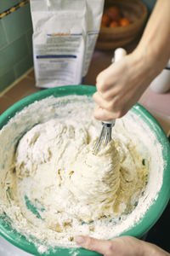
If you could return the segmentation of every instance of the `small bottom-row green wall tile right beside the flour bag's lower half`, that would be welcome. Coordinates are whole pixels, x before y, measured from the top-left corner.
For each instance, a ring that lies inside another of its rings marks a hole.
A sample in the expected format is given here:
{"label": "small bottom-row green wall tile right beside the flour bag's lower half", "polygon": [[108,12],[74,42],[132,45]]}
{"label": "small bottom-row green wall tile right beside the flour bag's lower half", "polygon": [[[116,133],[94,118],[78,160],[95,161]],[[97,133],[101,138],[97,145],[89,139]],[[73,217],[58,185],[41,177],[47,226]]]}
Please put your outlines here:
{"label": "small bottom-row green wall tile right beside the flour bag's lower half", "polygon": [[22,61],[14,66],[14,73],[16,79],[20,78],[20,76],[26,73],[26,71],[28,71],[28,69],[30,69],[32,66],[33,61],[31,55],[27,55]]}

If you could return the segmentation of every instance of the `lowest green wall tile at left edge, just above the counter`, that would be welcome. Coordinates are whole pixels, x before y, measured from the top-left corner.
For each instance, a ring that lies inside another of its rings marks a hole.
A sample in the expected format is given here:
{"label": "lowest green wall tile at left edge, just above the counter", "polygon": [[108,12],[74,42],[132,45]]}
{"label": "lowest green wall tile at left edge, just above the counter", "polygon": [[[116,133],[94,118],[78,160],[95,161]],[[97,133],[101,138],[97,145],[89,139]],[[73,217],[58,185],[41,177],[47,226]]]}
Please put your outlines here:
{"label": "lowest green wall tile at left edge, just above the counter", "polygon": [[15,80],[14,69],[8,71],[3,76],[0,77],[0,92],[5,90],[10,84]]}

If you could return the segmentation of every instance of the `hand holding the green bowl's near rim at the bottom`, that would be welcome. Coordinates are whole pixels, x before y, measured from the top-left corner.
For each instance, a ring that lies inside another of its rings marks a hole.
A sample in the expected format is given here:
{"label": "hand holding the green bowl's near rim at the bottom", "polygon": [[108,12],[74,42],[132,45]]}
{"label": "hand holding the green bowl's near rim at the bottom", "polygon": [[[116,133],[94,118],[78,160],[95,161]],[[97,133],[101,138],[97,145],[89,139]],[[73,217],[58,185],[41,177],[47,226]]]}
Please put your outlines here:
{"label": "hand holding the green bowl's near rim at the bottom", "polygon": [[121,236],[111,241],[102,241],[88,236],[77,236],[77,244],[105,256],[169,256],[160,247],[141,241],[133,236]]}

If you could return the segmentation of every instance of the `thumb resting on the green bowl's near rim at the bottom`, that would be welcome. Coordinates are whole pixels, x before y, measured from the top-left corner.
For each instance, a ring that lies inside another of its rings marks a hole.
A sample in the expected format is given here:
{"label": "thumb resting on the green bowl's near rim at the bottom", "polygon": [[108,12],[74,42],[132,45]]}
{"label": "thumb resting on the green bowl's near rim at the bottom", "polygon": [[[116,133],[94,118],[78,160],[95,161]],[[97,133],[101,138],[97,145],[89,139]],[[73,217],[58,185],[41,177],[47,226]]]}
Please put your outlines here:
{"label": "thumb resting on the green bowl's near rim at the bottom", "polygon": [[84,247],[88,250],[102,253],[105,255],[111,255],[111,252],[112,252],[111,241],[103,241],[103,240],[95,239],[89,236],[76,236],[75,241],[79,246]]}

